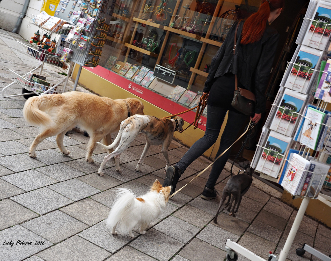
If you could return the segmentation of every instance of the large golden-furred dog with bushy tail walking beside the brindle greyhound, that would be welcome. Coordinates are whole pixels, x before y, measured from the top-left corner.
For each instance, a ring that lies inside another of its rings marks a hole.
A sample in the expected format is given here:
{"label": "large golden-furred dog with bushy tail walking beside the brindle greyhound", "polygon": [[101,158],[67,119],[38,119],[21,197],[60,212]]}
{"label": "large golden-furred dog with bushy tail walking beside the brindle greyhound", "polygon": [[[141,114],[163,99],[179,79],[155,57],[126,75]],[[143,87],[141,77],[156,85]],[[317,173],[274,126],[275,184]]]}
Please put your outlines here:
{"label": "large golden-furred dog with bushy tail walking beside the brindle greyhound", "polygon": [[85,159],[91,163],[97,142],[103,139],[105,145],[110,145],[111,133],[118,131],[121,121],[134,114],[144,114],[143,103],[134,98],[112,100],[84,92],[31,97],[25,102],[23,116],[26,122],[41,128],[30,146],[29,155],[36,157],[38,144],[55,135],[60,151],[68,155],[70,151],[63,146],[63,137],[78,126],[90,135]]}

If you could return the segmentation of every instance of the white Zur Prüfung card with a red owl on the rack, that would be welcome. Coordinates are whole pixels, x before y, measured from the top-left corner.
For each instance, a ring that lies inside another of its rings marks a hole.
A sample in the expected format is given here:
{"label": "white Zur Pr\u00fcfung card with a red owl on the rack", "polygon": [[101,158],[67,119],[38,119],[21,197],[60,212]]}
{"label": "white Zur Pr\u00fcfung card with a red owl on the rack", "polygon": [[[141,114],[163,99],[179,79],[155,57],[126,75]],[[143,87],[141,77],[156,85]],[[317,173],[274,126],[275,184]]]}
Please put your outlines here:
{"label": "white Zur Pr\u00fcfung card with a red owl on the rack", "polygon": [[306,179],[309,160],[294,153],[291,161],[287,165],[285,176],[281,183],[284,190],[292,195],[300,195],[303,182]]}

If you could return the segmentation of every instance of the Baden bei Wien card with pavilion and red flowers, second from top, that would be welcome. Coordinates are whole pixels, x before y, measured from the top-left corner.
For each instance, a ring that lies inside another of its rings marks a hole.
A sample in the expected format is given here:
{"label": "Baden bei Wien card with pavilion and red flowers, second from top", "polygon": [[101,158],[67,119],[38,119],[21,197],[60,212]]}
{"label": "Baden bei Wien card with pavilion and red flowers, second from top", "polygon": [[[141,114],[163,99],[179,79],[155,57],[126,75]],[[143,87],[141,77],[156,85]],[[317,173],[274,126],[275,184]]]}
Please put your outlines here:
{"label": "Baden bei Wien card with pavilion and red flowers, second from top", "polygon": [[319,68],[322,54],[322,51],[302,45],[294,63],[288,67],[291,70],[284,86],[304,94],[309,93],[317,75],[314,69]]}

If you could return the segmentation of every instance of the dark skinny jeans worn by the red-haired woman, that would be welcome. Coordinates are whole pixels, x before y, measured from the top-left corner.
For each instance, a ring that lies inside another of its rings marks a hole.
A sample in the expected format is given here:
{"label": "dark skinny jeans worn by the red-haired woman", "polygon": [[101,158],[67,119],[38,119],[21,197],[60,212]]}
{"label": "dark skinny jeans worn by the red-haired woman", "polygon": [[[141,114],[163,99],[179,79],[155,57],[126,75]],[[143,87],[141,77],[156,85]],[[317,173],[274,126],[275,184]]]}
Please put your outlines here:
{"label": "dark skinny jeans worn by the red-haired woman", "polygon": [[[185,153],[185,155],[176,164],[179,167],[181,174],[185,169],[204,152],[206,152],[216,142],[224,121],[227,109],[214,107],[208,105],[207,109],[207,124],[205,135],[197,140],[192,147]],[[216,157],[218,157],[223,151],[225,151],[236,140],[240,127],[245,122],[248,116],[229,110],[228,119],[225,125],[224,132],[221,137],[220,146]],[[206,183],[206,187],[213,189],[215,183],[221,174],[226,161],[229,158],[230,150],[225,152],[219,159],[213,164],[212,171],[209,175],[209,179]]]}

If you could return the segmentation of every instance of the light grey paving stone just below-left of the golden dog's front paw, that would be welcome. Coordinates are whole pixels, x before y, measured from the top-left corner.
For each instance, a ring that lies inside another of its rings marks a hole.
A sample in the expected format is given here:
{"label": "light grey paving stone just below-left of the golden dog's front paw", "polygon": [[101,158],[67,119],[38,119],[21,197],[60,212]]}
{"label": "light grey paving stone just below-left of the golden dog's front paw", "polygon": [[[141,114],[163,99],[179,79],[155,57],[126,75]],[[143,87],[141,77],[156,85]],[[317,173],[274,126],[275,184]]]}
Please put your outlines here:
{"label": "light grey paving stone just below-left of the golden dog's front paw", "polygon": [[58,163],[50,166],[41,167],[38,168],[37,170],[58,181],[65,181],[68,179],[77,178],[86,175],[85,173],[76,170],[64,163]]}

